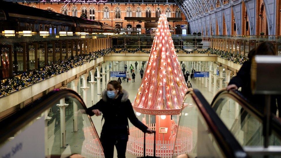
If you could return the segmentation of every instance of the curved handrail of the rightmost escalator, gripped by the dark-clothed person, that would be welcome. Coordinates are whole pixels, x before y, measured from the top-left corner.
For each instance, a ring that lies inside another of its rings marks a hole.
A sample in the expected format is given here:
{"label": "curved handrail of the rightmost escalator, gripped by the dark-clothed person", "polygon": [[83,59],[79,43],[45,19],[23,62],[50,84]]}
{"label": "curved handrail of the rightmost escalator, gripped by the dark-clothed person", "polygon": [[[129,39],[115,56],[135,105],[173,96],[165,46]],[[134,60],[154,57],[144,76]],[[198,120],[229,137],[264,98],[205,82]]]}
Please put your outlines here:
{"label": "curved handrail of the rightmost escalator, gripped by the dark-clothed person", "polygon": [[[230,90],[227,91],[226,89],[220,90],[214,99],[212,100],[211,107],[214,109],[218,108],[219,105],[215,106],[217,101],[221,100],[222,98],[231,98],[235,102],[238,102],[239,105],[242,106],[248,113],[254,115],[259,121],[263,122],[264,115],[261,113],[253,104],[241,94],[238,90]],[[276,135],[281,138],[281,119],[276,117],[275,115],[271,115],[271,127],[275,131]]]}

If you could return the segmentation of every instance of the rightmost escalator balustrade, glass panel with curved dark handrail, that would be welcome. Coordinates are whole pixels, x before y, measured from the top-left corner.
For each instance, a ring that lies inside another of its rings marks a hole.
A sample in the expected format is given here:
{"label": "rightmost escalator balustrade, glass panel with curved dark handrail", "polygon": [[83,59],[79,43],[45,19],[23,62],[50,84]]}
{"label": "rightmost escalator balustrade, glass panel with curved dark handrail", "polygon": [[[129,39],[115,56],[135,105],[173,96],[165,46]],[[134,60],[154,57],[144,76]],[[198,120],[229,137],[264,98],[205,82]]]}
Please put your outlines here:
{"label": "rightmost escalator balustrade, glass panel with curved dark handrail", "polygon": [[[211,103],[212,109],[252,157],[281,155],[281,120],[270,115],[269,137],[264,136],[264,114],[239,91],[221,90]],[[269,147],[265,146],[265,141]]]}

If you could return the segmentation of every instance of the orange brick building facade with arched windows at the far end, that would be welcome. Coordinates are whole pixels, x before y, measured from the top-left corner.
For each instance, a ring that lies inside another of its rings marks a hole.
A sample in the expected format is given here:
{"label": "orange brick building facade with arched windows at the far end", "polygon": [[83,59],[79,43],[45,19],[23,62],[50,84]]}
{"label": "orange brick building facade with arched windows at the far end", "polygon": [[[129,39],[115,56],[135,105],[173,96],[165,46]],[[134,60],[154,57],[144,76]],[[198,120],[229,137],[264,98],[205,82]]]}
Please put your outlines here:
{"label": "orange brick building facade with arched windows at the far end", "polygon": [[25,3],[31,7],[50,10],[53,12],[80,17],[82,13],[87,14],[88,19],[97,20],[109,24],[112,27],[132,28],[136,27],[141,34],[153,32],[144,28],[144,22],[128,22],[124,17],[157,17],[165,12],[167,17],[182,17],[180,22],[169,22],[173,34],[181,34],[180,25],[187,24],[184,14],[177,5],[157,5],[157,4],[95,4],[95,3]]}

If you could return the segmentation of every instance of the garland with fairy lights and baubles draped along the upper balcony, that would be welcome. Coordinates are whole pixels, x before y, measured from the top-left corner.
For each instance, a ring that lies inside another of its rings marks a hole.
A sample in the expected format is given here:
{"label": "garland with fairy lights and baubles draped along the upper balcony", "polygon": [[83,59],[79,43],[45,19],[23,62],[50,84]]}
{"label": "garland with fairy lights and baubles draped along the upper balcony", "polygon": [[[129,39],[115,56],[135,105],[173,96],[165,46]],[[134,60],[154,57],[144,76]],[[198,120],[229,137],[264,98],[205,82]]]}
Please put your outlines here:
{"label": "garland with fairy lights and baubles draped along the upper balcony", "polygon": [[[5,48],[7,49],[7,48]],[[33,49],[33,48],[31,48]],[[3,50],[7,51],[7,50]],[[20,50],[19,50],[20,51]],[[96,60],[97,58],[100,58],[102,56],[105,56],[109,53],[122,53],[122,52],[128,52],[128,53],[136,53],[138,51],[146,54],[150,54],[150,50],[143,50],[142,48],[137,48],[135,50],[123,48],[121,50],[115,50],[114,48],[107,48],[100,51],[92,52],[91,54],[82,54],[78,56],[69,56],[67,59],[64,59],[62,61],[57,61],[56,63],[51,63],[49,65],[44,66],[43,68],[24,72],[21,75],[17,75],[14,77],[10,77],[6,80],[3,80],[0,82],[0,95],[9,95],[13,91],[17,91],[22,89],[23,87],[27,87],[30,84],[37,83],[41,80],[45,80],[49,77],[53,77],[56,75],[59,75],[61,73],[67,72],[68,70],[75,68],[77,66],[81,66],[85,63],[91,62],[92,60]],[[191,54],[191,53],[210,53],[215,54],[217,56],[220,56],[221,58],[225,58],[226,60],[232,61],[236,64],[243,64],[245,61],[248,60],[248,58],[245,55],[239,54],[239,53],[229,53],[227,51],[222,50],[215,50],[212,48],[208,48],[207,50],[200,51],[198,49],[193,49],[191,51],[187,51],[184,49],[178,49],[176,50],[176,53],[179,53],[180,51],[184,52],[185,54]],[[59,50],[58,50],[59,52]],[[5,82],[4,82],[5,81]]]}

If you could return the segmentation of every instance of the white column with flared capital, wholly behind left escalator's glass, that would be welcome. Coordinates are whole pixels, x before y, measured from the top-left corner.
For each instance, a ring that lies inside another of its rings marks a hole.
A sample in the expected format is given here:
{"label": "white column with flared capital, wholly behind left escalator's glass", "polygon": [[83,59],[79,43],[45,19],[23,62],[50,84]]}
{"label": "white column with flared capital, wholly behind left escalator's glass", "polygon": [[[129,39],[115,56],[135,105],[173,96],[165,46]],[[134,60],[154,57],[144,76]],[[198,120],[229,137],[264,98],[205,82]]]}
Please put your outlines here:
{"label": "white column with flared capital, wholly behind left escalator's glass", "polygon": [[66,130],[65,130],[65,107],[69,104],[65,104],[64,98],[60,99],[60,104],[57,106],[60,108],[60,148],[66,148]]}

